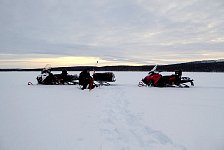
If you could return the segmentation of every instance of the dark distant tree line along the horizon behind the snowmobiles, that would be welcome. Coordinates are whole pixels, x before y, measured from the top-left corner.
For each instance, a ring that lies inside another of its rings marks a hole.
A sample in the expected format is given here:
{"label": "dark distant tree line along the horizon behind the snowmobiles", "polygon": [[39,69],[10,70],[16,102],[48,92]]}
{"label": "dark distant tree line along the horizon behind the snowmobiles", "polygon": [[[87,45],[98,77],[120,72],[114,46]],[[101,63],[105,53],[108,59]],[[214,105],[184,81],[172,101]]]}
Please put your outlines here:
{"label": "dark distant tree line along the horizon behind the snowmobiles", "polygon": [[[90,69],[95,71],[150,71],[154,66],[75,66],[75,67],[56,67],[52,71],[82,71],[83,69]],[[41,71],[43,68],[37,69],[0,69],[0,71]],[[199,61],[171,65],[158,65],[158,71],[176,71],[182,70],[185,72],[224,72],[224,61]]]}

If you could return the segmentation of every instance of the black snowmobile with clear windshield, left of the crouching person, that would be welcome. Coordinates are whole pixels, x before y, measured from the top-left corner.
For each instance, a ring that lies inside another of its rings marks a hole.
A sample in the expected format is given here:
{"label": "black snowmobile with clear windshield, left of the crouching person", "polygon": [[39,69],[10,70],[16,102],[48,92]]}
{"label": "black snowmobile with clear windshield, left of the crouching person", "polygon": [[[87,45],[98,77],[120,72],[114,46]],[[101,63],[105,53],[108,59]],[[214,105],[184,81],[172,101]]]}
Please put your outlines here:
{"label": "black snowmobile with clear windshield, left of the crouching person", "polygon": [[38,84],[45,85],[78,84],[78,76],[76,74],[69,75],[66,70],[62,70],[61,74],[53,74],[50,67],[45,67],[36,79]]}

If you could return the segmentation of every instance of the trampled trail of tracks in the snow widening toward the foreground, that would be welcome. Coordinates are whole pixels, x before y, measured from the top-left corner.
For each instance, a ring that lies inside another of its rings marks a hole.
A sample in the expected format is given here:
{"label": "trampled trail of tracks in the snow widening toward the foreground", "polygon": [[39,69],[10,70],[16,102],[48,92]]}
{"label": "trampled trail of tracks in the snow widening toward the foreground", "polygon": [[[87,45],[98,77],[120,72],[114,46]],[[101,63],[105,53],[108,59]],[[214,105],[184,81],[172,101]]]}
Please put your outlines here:
{"label": "trampled trail of tracks in the snow widening toward the foreground", "polygon": [[100,118],[101,150],[186,150],[162,131],[144,124],[141,114],[129,110],[131,100],[122,88],[117,87],[116,95],[110,94]]}

